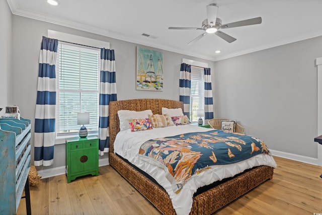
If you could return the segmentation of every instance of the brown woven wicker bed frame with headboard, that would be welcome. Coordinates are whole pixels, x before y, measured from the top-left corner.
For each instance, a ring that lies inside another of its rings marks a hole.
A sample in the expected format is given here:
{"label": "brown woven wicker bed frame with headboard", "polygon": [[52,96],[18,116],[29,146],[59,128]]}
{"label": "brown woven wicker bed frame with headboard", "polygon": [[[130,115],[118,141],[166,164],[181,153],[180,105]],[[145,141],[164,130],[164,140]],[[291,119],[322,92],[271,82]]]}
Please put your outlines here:
{"label": "brown woven wicker bed frame with headboard", "polygon": [[[114,140],[120,130],[118,110],[142,111],[150,109],[153,114],[161,114],[162,107],[183,108],[183,103],[166,99],[132,99],[114,101],[109,104],[109,162],[127,181],[145,196],[160,212],[176,214],[168,193],[145,177],[131,165],[114,154]],[[260,166],[238,175],[201,194],[193,197],[190,214],[211,214],[252,188],[273,177],[273,168]]]}

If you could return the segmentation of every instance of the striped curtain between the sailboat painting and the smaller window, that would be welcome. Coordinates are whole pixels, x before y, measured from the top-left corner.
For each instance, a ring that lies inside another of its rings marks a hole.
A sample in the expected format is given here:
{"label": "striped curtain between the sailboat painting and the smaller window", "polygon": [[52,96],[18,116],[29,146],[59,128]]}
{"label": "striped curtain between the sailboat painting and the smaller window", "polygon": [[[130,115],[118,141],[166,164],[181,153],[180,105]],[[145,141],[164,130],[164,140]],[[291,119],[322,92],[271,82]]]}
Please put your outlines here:
{"label": "striped curtain between the sailboat painting and the smaller window", "polygon": [[179,78],[179,96],[183,102],[183,114],[190,118],[191,65],[181,63]]}

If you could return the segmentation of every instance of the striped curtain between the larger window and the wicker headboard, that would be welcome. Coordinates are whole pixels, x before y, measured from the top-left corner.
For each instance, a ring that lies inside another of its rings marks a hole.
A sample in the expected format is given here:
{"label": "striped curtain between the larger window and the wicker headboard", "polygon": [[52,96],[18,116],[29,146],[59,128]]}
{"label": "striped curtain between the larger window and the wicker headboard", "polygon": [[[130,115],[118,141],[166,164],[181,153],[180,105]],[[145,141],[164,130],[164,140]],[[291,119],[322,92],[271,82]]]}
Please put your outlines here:
{"label": "striped curtain between the larger window and the wicker headboard", "polygon": [[100,155],[109,152],[109,103],[116,101],[116,76],[114,50],[101,49],[100,82]]}

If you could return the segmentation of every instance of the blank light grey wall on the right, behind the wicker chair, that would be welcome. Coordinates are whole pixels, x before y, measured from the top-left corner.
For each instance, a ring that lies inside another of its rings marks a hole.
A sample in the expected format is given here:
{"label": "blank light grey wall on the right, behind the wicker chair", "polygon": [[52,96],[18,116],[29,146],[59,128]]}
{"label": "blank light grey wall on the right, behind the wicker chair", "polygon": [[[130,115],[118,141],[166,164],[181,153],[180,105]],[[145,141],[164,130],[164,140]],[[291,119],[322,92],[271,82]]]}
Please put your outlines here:
{"label": "blank light grey wall on the right, behind the wicker chair", "polygon": [[217,61],[215,117],[236,119],[270,149],[317,159],[322,37]]}

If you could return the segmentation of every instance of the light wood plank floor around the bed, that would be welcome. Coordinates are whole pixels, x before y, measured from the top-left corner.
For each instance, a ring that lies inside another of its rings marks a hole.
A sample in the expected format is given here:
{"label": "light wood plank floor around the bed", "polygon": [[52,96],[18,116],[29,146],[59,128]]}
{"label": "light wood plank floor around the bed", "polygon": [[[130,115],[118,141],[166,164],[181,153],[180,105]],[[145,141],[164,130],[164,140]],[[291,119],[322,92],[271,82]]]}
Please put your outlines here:
{"label": "light wood plank floor around the bed", "polygon": [[[277,168],[272,180],[214,214],[322,213],[322,167],[274,159]],[[32,214],[160,214],[111,166],[100,167],[99,173],[68,184],[65,175],[42,179],[30,187]],[[25,199],[17,214],[26,214]]]}

